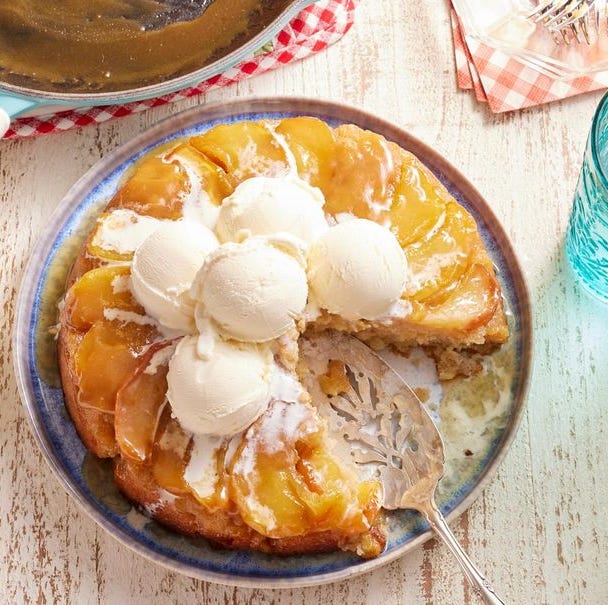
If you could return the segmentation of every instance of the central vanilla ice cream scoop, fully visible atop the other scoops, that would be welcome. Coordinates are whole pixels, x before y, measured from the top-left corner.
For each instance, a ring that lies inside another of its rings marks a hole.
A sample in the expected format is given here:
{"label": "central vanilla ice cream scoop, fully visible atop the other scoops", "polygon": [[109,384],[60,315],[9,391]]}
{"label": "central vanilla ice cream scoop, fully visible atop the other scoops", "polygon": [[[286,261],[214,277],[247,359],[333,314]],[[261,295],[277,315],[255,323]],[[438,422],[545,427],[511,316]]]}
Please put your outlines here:
{"label": "central vanilla ice cream scoop, fully visible atop the other scoops", "polygon": [[192,296],[197,317],[210,317],[221,336],[265,342],[294,327],[308,298],[306,272],[298,260],[255,237],[222,244],[196,276]]}

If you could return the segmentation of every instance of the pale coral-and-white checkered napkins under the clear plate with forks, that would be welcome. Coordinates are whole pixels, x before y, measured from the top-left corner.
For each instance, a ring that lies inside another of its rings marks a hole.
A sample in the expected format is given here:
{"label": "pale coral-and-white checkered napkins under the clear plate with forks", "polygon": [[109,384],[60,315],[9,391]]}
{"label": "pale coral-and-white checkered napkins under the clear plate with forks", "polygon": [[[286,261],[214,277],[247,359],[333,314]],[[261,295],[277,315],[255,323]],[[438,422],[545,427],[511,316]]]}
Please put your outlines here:
{"label": "pale coral-and-white checkered napkins under the clear plate with forks", "polygon": [[456,11],[450,9],[456,79],[459,88],[473,90],[494,113],[550,103],[608,87],[608,72],[572,80],[557,80],[467,35]]}

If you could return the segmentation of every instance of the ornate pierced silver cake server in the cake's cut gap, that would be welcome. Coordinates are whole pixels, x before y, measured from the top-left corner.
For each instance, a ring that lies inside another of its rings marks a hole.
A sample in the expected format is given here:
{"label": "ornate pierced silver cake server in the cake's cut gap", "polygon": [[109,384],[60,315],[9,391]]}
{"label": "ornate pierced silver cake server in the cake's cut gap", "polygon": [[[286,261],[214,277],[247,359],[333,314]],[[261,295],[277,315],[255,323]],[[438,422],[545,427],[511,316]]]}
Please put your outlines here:
{"label": "ornate pierced silver cake server in the cake's cut gap", "polygon": [[[323,332],[303,339],[300,348],[309,368],[305,386],[347,455],[381,481],[384,508],[419,511],[456,557],[480,599],[487,605],[505,605],[435,503],[435,489],[444,473],[443,441],[418,397],[383,359],[352,336]],[[323,392],[318,380],[330,360],[341,362],[345,370],[342,390],[332,396]]]}

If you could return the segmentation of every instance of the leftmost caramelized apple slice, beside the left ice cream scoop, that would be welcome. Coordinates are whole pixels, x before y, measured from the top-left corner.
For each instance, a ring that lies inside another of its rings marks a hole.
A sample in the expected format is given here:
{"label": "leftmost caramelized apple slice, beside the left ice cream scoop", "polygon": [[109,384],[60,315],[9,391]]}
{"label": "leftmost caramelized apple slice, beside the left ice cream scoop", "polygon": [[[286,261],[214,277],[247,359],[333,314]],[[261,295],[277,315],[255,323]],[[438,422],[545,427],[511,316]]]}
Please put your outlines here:
{"label": "leftmost caramelized apple slice, beside the left ice cream scoop", "polygon": [[67,292],[64,317],[77,330],[88,330],[104,319],[105,309],[143,314],[144,309],[129,290],[131,270],[105,266],[87,271]]}

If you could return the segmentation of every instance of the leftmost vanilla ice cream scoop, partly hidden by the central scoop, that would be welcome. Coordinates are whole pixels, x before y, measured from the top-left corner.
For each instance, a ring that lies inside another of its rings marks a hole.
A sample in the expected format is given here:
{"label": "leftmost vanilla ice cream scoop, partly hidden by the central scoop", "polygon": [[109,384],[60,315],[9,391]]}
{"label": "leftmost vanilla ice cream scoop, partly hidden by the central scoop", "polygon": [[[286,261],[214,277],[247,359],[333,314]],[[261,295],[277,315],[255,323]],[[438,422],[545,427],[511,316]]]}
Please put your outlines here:
{"label": "leftmost vanilla ice cream scoop, partly hidden by the central scoop", "polygon": [[213,232],[199,223],[165,222],[153,231],[135,251],[131,267],[133,293],[146,313],[166,328],[192,333],[190,287],[217,246]]}

